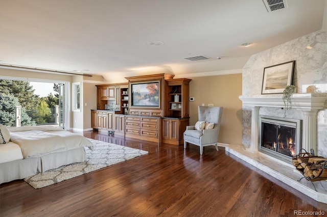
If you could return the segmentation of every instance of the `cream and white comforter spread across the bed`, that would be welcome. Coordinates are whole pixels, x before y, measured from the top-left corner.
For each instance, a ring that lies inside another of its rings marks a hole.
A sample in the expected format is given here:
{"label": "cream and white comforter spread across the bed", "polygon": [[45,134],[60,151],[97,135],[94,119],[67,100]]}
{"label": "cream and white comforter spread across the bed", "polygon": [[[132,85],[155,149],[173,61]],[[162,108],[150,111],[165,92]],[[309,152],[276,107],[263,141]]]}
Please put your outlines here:
{"label": "cream and white comforter spread across the bed", "polygon": [[39,157],[49,153],[62,152],[93,144],[76,133],[53,126],[8,127],[10,141],[18,144],[24,158]]}

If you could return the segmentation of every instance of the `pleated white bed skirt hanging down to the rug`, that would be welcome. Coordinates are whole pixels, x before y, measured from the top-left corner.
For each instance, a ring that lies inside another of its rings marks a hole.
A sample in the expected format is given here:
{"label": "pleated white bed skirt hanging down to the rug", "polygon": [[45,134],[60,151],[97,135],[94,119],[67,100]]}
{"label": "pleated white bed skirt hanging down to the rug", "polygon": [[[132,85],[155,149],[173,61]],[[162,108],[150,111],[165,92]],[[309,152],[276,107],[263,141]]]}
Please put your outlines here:
{"label": "pleated white bed skirt hanging down to the rug", "polygon": [[0,184],[85,160],[84,147],[0,164]]}

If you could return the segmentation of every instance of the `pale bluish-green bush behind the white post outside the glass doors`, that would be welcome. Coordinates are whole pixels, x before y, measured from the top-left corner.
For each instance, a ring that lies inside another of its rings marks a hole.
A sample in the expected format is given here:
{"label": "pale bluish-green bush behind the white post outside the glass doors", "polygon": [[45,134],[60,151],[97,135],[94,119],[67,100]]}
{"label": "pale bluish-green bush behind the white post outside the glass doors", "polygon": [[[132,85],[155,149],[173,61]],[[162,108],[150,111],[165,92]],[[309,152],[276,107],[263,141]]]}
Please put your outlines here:
{"label": "pale bluish-green bush behind the white post outside the glass doors", "polygon": [[[19,106],[18,98],[12,95],[0,93],[0,123],[6,126],[16,126],[16,106]],[[25,108],[20,111],[21,126],[34,126],[35,121],[29,117]]]}

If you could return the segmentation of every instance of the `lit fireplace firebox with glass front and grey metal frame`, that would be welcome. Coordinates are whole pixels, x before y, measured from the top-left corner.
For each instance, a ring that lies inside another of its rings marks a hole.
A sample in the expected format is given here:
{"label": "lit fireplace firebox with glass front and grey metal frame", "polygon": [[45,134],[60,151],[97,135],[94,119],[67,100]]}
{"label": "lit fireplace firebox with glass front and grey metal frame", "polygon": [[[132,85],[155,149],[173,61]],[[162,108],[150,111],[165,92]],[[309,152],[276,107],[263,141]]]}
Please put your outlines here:
{"label": "lit fireplace firebox with glass front and grey metal frame", "polygon": [[302,121],[272,116],[259,120],[259,151],[291,164],[301,149]]}

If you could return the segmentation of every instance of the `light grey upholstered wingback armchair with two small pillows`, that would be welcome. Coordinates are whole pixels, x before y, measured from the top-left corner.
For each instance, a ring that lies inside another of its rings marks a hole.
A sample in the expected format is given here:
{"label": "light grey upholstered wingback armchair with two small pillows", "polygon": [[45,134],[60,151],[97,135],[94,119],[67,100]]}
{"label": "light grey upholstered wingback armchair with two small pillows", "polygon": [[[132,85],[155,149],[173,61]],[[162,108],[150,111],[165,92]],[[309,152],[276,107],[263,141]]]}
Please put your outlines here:
{"label": "light grey upholstered wingback armchair with two small pillows", "polygon": [[198,122],[195,126],[186,126],[184,131],[184,149],[187,143],[200,146],[200,154],[204,146],[214,145],[218,151],[218,135],[223,107],[199,106]]}

